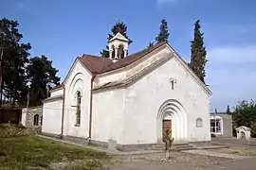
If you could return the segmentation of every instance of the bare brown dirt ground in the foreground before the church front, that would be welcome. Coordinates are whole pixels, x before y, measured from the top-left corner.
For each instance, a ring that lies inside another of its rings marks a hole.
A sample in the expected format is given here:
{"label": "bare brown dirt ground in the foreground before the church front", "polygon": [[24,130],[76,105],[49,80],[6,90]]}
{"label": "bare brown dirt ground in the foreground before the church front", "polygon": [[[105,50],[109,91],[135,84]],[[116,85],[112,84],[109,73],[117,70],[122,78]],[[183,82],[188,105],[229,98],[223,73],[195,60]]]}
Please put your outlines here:
{"label": "bare brown dirt ground in the foreground before the church front", "polygon": [[171,161],[165,160],[164,153],[117,156],[107,166],[110,170],[255,170],[255,167],[256,158],[231,160],[183,152],[173,152]]}

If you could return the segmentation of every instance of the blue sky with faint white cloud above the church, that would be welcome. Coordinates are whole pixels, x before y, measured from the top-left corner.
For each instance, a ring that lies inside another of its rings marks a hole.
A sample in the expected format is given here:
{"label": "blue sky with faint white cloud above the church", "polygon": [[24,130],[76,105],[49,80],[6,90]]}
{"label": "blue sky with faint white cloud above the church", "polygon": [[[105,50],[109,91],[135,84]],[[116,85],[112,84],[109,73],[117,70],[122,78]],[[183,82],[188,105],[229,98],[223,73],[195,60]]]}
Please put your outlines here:
{"label": "blue sky with faint white cloud above the church", "polygon": [[189,61],[199,19],[209,59],[210,108],[225,111],[256,99],[255,8],[255,0],[0,0],[0,18],[17,20],[23,42],[32,45],[31,57],[46,55],[62,79],[76,57],[100,55],[118,21],[134,41],[131,54],[155,40],[165,19],[170,44]]}

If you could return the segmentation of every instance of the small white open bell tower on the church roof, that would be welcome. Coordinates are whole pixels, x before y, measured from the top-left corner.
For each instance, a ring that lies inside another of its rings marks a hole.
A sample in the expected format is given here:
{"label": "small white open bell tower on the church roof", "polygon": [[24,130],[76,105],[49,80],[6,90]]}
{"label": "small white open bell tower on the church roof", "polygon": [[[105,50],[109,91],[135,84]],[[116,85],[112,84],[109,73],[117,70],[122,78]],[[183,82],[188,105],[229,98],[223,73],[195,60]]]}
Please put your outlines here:
{"label": "small white open bell tower on the church roof", "polygon": [[123,35],[118,33],[109,42],[109,59],[122,59],[127,57],[128,53],[128,43]]}

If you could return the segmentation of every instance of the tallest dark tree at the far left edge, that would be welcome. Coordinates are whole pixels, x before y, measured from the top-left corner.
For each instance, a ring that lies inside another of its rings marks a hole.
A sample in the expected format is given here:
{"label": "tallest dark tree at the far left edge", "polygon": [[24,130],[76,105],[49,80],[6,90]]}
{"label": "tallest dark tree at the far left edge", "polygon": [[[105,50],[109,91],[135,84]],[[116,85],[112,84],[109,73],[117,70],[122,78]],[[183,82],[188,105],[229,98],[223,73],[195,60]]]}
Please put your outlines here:
{"label": "tallest dark tree at the far left edge", "polygon": [[23,35],[18,26],[17,21],[0,20],[0,100],[5,95],[11,105],[21,102],[27,91],[25,65],[31,48],[30,43],[21,43]]}

